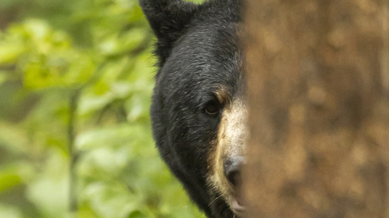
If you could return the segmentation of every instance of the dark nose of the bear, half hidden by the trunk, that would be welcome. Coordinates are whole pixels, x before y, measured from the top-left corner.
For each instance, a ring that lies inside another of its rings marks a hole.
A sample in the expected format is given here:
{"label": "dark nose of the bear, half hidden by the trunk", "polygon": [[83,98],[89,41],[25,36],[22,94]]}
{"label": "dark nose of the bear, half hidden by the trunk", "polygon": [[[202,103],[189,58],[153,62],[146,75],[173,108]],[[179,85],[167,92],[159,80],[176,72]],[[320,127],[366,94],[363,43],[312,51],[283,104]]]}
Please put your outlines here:
{"label": "dark nose of the bear, half hidden by the trunk", "polygon": [[244,158],[241,156],[232,157],[223,162],[224,176],[233,186],[240,184],[240,170],[244,163]]}

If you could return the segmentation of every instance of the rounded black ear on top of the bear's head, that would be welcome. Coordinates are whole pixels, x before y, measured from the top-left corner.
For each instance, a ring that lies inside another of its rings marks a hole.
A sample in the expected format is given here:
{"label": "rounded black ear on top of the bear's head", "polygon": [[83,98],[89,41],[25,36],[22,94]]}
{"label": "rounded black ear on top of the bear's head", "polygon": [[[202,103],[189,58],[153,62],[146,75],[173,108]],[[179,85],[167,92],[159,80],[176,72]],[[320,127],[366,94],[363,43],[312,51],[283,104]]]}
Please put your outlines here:
{"label": "rounded black ear on top of the bear's head", "polygon": [[157,36],[156,54],[160,58],[161,66],[173,43],[191,21],[197,5],[183,0],[139,0],[139,3]]}

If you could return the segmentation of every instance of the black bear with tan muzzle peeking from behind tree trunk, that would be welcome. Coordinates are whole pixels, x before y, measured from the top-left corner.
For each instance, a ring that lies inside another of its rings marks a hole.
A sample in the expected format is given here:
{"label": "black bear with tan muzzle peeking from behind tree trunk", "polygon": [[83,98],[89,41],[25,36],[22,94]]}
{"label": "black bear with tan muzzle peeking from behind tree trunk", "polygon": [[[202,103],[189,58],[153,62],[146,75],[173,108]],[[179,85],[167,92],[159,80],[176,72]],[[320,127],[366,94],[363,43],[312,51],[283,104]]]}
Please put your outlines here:
{"label": "black bear with tan muzzle peeking from behind tree trunk", "polygon": [[240,0],[140,0],[157,36],[152,97],[159,152],[209,218],[244,212],[245,77]]}

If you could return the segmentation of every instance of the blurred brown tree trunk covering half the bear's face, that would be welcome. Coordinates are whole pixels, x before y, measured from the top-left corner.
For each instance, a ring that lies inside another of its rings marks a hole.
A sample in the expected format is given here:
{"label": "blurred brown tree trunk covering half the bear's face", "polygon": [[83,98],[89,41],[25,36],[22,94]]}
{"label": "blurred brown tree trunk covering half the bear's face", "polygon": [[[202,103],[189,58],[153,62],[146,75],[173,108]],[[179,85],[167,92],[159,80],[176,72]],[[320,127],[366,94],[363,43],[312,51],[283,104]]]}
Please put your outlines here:
{"label": "blurred brown tree trunk covering half the bear's face", "polygon": [[246,0],[247,217],[389,217],[388,10]]}

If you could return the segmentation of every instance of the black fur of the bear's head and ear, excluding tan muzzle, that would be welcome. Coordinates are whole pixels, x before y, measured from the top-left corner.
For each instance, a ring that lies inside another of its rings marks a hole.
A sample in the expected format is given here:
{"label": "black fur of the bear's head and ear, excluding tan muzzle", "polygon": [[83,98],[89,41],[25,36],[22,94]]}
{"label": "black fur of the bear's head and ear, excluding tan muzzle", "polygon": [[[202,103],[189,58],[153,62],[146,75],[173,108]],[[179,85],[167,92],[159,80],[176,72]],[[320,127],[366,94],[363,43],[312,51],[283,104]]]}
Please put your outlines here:
{"label": "black fur of the bear's head and ear, excluding tan muzzle", "polygon": [[[242,94],[237,30],[240,0],[140,0],[157,36],[159,70],[151,118],[157,147],[171,171],[209,218],[233,217],[207,184],[220,114],[204,107],[220,87]],[[220,106],[222,108],[222,106]]]}

